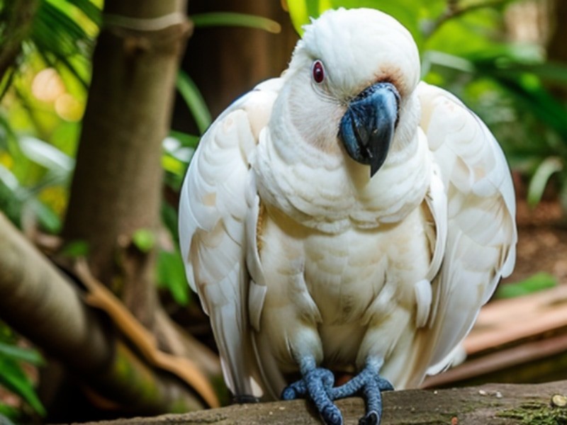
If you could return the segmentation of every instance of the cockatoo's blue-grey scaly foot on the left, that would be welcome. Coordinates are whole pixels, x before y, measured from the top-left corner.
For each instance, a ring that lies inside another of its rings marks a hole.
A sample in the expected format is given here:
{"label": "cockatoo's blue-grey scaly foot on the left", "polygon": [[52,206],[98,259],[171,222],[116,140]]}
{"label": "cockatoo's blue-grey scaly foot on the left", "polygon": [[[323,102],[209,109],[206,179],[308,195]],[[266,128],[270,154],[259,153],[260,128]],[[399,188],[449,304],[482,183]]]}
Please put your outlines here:
{"label": "cockatoo's blue-grey scaly foot on the left", "polygon": [[342,425],[341,411],[333,404],[331,397],[335,376],[328,369],[318,368],[315,365],[315,358],[311,356],[301,358],[299,363],[303,378],[285,387],[281,392],[281,398],[291,400],[309,397],[325,424]]}

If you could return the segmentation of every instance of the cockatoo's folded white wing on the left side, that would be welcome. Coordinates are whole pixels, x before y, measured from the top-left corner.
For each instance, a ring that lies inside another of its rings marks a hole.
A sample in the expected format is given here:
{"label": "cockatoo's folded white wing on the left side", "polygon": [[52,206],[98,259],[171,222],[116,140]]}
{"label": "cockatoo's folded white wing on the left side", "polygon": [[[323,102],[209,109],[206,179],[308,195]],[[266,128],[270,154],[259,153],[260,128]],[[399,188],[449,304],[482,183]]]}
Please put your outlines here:
{"label": "cockatoo's folded white wing on the left side", "polygon": [[[193,155],[179,201],[187,280],[210,315],[225,382],[236,395],[262,395],[249,329],[246,257],[256,231],[247,229],[247,223],[257,220],[250,217],[257,215],[257,208],[249,202],[256,193],[249,159],[279,86],[278,79],[260,84],[215,120]],[[254,297],[254,318],[262,300]]]}

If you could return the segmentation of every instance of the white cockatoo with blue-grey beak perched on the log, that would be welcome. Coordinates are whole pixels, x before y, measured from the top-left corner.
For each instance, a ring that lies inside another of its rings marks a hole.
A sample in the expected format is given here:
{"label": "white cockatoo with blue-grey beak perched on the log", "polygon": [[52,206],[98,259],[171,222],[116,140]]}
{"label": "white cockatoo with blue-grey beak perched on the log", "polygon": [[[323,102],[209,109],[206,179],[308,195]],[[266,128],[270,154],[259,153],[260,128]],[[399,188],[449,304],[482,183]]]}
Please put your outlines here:
{"label": "white cockatoo with blue-grey beak perched on the log", "polygon": [[450,361],[511,273],[515,196],[481,120],[420,82],[408,30],[341,8],[210,126],[179,237],[235,395],[308,397],[341,424],[333,400],[358,393],[370,424],[381,390]]}

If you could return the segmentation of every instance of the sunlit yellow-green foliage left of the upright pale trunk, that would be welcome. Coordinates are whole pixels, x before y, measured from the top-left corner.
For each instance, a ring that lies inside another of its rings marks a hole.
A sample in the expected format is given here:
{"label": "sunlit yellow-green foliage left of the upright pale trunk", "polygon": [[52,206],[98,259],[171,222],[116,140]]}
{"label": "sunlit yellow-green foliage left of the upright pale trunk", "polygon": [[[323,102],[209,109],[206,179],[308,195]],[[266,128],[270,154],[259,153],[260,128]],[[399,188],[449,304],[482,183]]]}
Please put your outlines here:
{"label": "sunlit yellow-green foliage left of the upright pale trunk", "polygon": [[38,0],[21,40],[22,60],[4,76],[0,205],[18,226],[38,222],[50,233],[62,227],[99,7],[100,1]]}

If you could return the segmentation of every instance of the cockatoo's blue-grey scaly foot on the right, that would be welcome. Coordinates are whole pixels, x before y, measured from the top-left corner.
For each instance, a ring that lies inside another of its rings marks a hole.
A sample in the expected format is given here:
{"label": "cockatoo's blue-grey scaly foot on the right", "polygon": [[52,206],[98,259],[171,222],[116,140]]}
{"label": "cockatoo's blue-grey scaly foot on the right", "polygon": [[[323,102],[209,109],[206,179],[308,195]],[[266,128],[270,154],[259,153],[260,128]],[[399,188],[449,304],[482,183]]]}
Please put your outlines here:
{"label": "cockatoo's blue-grey scaly foot on the right", "polygon": [[383,365],[381,358],[369,357],[366,366],[354,378],[340,387],[332,388],[331,398],[351,397],[361,393],[366,402],[366,414],[361,417],[359,425],[380,424],[382,417],[382,391],[391,391],[393,385],[379,375]]}

